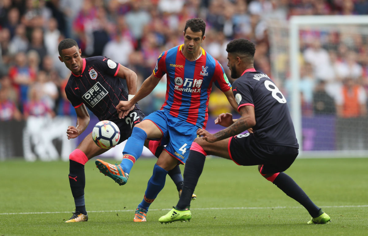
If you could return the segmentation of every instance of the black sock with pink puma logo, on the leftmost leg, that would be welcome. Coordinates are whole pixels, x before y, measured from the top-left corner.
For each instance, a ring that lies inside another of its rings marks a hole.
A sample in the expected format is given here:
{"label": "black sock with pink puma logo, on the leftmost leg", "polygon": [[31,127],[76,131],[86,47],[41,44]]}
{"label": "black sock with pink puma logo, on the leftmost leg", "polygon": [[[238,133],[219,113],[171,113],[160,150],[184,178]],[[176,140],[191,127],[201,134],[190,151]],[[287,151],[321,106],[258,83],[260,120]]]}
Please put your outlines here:
{"label": "black sock with pink puma logo, on the leftmost leg", "polygon": [[[82,214],[87,214],[84,203],[84,187],[86,185],[86,179],[84,174],[84,165],[69,160],[69,184],[71,193],[74,197],[75,209],[80,207]],[[83,210],[84,207],[84,210]]]}

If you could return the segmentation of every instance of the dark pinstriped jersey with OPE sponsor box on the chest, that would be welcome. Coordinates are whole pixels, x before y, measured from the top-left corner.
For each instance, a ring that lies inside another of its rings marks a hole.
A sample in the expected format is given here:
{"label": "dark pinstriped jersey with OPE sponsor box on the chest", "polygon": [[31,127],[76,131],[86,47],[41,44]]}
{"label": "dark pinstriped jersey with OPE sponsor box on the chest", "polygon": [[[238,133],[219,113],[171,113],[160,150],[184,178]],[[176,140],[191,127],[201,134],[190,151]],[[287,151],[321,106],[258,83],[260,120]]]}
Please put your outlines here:
{"label": "dark pinstriped jersey with OPE sponsor box on the chest", "polygon": [[[74,108],[84,103],[100,121],[118,121],[115,107],[119,101],[128,100],[124,85],[116,77],[120,64],[102,56],[82,60],[82,74],[71,74],[65,87],[68,100]],[[140,109],[138,104],[135,109]]]}

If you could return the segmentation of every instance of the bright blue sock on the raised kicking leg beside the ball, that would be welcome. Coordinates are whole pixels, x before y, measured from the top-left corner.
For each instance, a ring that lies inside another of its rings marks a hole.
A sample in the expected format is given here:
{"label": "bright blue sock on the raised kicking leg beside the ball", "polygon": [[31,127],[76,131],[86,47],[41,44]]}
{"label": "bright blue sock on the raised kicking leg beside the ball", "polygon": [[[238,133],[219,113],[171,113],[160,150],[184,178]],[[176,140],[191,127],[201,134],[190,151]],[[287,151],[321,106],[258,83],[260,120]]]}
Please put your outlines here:
{"label": "bright blue sock on the raised kicking leg beside the ball", "polygon": [[128,138],[123,150],[123,160],[120,163],[121,168],[127,174],[130,173],[134,162],[141,156],[144,146],[144,141],[147,138],[147,133],[138,127],[134,127],[132,135]]}

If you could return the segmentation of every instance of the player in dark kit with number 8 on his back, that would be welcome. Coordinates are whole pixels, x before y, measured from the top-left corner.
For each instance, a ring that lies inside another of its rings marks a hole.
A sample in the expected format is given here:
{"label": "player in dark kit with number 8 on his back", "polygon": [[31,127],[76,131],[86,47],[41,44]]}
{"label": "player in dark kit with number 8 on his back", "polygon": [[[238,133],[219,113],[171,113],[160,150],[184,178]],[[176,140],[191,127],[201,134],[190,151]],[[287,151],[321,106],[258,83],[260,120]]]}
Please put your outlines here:
{"label": "player in dark kit with number 8 on his back", "polygon": [[[159,222],[191,219],[190,196],[202,173],[206,155],[233,160],[238,165],[258,165],[261,175],[303,205],[312,216],[308,224],[326,224],[330,217],[317,207],[285,171],[298,155],[298,142],[286,99],[275,83],[253,66],[255,45],[246,39],[227,44],[227,66],[233,93],[241,114],[232,119],[220,114],[215,123],[227,127],[215,134],[198,129],[184,168],[180,199]],[[248,130],[248,133],[240,134]]]}

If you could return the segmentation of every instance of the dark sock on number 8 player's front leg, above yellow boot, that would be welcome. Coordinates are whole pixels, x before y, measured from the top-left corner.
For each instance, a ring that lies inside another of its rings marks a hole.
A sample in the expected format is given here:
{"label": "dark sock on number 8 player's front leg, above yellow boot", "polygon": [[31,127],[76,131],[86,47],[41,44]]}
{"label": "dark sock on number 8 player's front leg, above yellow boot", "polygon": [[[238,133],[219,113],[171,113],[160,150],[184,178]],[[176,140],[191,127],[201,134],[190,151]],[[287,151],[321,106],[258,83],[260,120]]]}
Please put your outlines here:
{"label": "dark sock on number 8 player's front leg, above yellow boot", "polygon": [[206,156],[199,151],[190,150],[189,157],[184,168],[183,191],[176,205],[177,209],[185,209],[190,206],[192,194],[197,186],[205,165]]}

